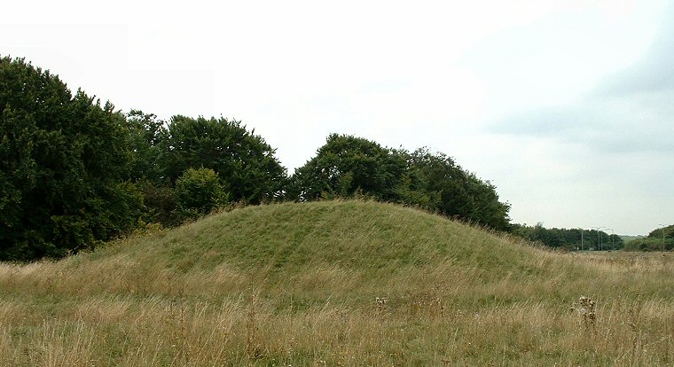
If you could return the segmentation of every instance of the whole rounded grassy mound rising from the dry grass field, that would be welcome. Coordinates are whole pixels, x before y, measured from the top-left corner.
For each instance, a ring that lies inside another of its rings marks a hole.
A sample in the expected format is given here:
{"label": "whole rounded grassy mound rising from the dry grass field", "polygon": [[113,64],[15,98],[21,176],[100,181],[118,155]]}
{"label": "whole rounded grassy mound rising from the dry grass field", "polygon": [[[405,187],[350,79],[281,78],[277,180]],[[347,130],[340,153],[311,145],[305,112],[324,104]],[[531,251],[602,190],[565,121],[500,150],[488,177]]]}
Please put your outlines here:
{"label": "whole rounded grassy mound rising from the dry grass field", "polygon": [[14,286],[30,292],[225,297],[282,289],[294,300],[341,296],[355,303],[378,289],[418,293],[427,285],[478,303],[518,301],[532,286],[560,298],[558,285],[582,277],[597,273],[443,216],[355,200],[243,207],[12,270],[20,279]]}

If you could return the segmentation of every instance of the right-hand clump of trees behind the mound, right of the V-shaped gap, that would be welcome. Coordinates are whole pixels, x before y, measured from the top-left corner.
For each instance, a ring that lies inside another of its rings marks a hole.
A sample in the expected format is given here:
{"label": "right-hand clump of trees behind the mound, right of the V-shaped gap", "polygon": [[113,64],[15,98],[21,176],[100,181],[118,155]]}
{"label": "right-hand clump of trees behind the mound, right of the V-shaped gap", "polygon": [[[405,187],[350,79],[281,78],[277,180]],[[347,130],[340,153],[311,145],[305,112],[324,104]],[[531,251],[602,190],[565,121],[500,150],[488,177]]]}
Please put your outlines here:
{"label": "right-hand clump of trees behind the mound, right of the V-shaped gap", "polygon": [[442,215],[508,230],[508,204],[495,187],[460,168],[443,153],[394,150],[360,137],[332,134],[314,158],[298,168],[288,199],[350,197],[361,193]]}

